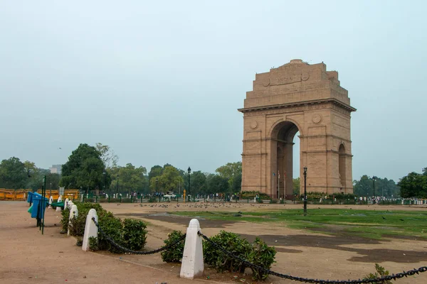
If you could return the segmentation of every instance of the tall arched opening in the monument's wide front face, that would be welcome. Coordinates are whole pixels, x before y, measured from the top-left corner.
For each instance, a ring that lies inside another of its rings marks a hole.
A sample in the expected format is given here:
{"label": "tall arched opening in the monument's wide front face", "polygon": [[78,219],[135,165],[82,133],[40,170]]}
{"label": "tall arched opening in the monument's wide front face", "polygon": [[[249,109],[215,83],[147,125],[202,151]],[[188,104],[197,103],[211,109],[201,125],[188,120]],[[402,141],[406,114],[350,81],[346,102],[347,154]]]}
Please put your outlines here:
{"label": "tall arched opening in the monument's wide front face", "polygon": [[[270,194],[274,198],[292,199],[293,197],[293,178],[300,176],[300,147],[297,147],[297,153],[294,153],[295,140],[298,143],[300,140],[295,139],[297,133],[299,133],[298,127],[290,121],[281,122],[272,131]],[[294,157],[297,157],[297,163]],[[295,165],[297,168],[294,169]]]}

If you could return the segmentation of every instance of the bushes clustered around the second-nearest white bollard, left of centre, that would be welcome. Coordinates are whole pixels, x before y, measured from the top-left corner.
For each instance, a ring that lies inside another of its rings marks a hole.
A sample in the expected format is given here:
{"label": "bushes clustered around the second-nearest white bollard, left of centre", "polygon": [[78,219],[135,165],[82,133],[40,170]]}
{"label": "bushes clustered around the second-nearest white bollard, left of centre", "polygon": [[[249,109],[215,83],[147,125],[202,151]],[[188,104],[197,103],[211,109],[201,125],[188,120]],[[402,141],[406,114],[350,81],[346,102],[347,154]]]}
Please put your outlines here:
{"label": "bushes clustered around the second-nearest white bollard, left of centre", "polygon": [[[136,219],[124,219],[123,221],[111,212],[103,209],[100,204],[90,202],[75,203],[78,209],[78,217],[70,220],[70,209],[64,209],[60,223],[63,231],[70,229],[71,236],[83,236],[85,233],[86,216],[90,209],[95,209],[98,217],[98,224],[107,236],[120,246],[125,246],[133,251],[141,250],[147,240],[147,226],[144,222]],[[120,249],[112,246],[102,234],[98,234],[96,239],[90,240],[90,249],[93,251],[111,251],[122,253]]]}

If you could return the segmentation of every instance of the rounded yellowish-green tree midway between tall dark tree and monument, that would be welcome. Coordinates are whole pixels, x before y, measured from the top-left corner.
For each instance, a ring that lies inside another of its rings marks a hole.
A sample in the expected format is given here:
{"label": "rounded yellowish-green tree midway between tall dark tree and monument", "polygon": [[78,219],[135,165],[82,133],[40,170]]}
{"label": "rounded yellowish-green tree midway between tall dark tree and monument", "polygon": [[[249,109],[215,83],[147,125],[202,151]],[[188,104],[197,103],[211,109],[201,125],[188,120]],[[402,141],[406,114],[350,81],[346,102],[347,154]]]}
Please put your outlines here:
{"label": "rounded yellowish-green tree midway between tall dark tree and monument", "polygon": [[172,165],[167,165],[162,170],[162,175],[153,176],[149,182],[149,188],[154,191],[176,191],[179,183],[183,184],[184,180],[179,173],[179,170]]}

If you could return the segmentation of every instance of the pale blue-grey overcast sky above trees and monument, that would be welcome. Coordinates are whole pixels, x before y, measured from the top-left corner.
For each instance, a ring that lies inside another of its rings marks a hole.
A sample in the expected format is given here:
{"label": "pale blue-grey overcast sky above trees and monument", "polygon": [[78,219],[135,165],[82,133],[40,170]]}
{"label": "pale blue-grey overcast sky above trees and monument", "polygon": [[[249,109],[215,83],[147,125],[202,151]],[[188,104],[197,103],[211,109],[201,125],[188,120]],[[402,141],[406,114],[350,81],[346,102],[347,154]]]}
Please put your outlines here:
{"label": "pale blue-grey overcast sky above trees and monument", "polygon": [[101,142],[120,165],[214,172],[241,160],[255,72],[300,58],[357,108],[354,179],[421,172],[426,3],[0,1],[0,160],[49,168]]}

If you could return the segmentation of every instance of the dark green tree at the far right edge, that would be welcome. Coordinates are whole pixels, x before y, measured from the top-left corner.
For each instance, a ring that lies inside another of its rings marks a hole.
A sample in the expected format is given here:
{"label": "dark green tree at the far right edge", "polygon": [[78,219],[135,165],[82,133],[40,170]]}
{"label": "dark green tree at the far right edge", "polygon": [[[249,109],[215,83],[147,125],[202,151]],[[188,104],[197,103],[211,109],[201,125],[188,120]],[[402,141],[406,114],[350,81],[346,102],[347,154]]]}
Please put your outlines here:
{"label": "dark green tree at the far right edge", "polygon": [[401,197],[427,198],[427,168],[423,168],[423,173],[408,173],[398,185],[401,187]]}

